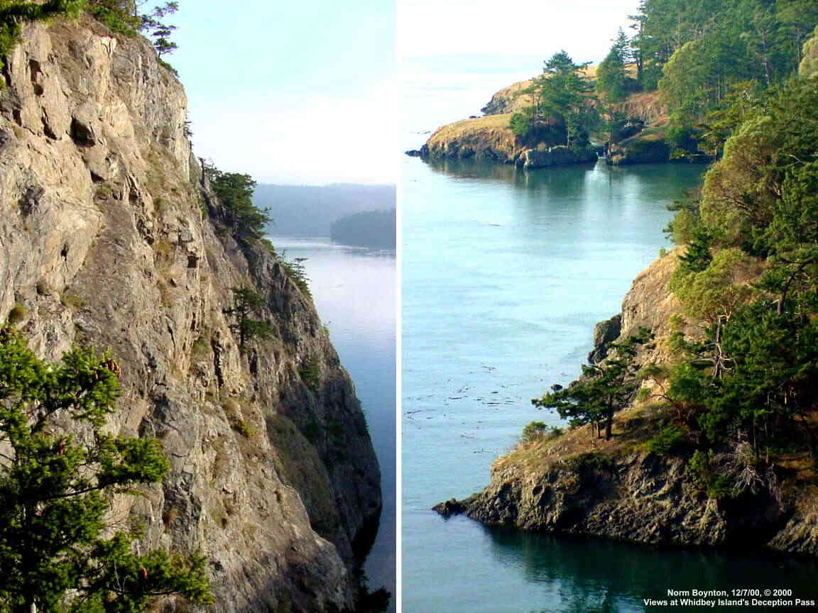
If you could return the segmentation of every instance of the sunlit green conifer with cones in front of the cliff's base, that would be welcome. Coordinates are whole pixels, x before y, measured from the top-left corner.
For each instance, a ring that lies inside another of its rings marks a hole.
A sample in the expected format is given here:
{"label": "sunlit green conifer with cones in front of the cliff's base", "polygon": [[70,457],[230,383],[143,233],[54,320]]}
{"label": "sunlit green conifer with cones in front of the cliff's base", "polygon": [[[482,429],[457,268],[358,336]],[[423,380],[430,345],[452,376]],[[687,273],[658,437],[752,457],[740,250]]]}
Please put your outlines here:
{"label": "sunlit green conifer with cones in front of the cliff's base", "polygon": [[159,441],[102,432],[118,371],[92,349],[47,364],[0,329],[0,613],[137,613],[171,594],[212,602],[204,557],[137,554],[138,528],[110,530],[113,495],[169,469]]}

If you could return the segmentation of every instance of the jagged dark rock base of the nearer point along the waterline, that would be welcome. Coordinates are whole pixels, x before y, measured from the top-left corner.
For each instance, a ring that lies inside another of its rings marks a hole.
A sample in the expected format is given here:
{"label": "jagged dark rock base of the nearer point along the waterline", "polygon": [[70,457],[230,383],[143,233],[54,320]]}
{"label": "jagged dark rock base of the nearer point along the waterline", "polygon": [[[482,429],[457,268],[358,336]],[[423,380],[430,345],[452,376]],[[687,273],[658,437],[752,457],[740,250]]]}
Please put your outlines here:
{"label": "jagged dark rock base of the nearer point along the waterline", "polygon": [[799,496],[784,504],[768,497],[708,499],[690,479],[684,458],[587,453],[544,472],[504,466],[492,471],[491,485],[479,494],[434,510],[529,532],[816,556],[816,520],[800,512],[805,502]]}

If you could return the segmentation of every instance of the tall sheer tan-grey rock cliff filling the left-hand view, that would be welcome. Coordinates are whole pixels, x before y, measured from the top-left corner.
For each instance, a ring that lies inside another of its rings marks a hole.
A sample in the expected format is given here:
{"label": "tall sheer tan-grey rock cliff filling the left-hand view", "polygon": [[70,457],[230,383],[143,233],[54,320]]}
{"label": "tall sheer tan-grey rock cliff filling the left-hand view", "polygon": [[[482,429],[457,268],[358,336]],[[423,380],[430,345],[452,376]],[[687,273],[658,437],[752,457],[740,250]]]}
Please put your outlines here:
{"label": "tall sheer tan-grey rock cliff filling the left-hand view", "polygon": [[[159,437],[172,469],[117,515],[209,557],[212,611],[351,608],[380,476],[311,299],[220,227],[150,43],[88,19],[23,38],[0,90],[0,311],[25,309],[43,357],[92,343],[119,360],[110,428]],[[224,313],[242,286],[275,331],[244,355]]]}

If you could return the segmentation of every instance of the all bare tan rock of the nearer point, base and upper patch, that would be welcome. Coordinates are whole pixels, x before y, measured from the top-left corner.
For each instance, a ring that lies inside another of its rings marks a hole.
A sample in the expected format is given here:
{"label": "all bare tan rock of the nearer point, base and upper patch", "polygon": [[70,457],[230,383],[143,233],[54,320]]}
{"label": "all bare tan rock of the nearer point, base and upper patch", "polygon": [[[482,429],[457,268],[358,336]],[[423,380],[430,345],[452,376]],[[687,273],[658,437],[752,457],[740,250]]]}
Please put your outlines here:
{"label": "all bare tan rock of the nearer point, base and upper patch", "polygon": [[[678,254],[659,258],[636,278],[618,315],[622,336],[640,326],[654,330],[657,342],[640,355],[645,364],[670,360],[663,340],[681,310],[668,289]],[[651,450],[648,441],[666,420],[655,403],[636,401],[616,414],[618,434],[610,441],[597,438],[589,424],[521,443],[495,461],[485,490],[436,510],[529,531],[818,555],[818,488],[809,465],[785,454],[776,462],[776,495],[762,490],[715,499],[691,474],[690,454]]]}

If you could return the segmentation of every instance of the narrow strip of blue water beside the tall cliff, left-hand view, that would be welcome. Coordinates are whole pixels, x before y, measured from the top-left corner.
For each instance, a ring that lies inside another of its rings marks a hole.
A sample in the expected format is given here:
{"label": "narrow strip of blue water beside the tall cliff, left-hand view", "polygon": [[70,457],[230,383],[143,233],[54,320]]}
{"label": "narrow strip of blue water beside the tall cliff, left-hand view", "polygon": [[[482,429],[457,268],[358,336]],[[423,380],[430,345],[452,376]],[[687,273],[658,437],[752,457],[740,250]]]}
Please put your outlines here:
{"label": "narrow strip of blue water beside the tall cliff, left-hand view", "polygon": [[[321,321],[353,378],[375,445],[384,509],[364,570],[371,588],[395,593],[395,256],[327,239],[271,236],[303,262]],[[394,599],[389,611],[395,611]]]}

